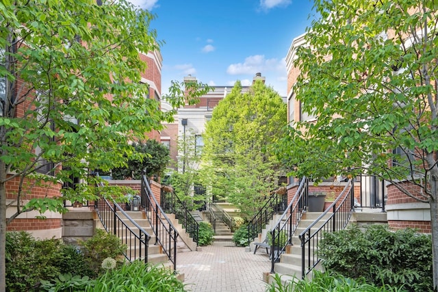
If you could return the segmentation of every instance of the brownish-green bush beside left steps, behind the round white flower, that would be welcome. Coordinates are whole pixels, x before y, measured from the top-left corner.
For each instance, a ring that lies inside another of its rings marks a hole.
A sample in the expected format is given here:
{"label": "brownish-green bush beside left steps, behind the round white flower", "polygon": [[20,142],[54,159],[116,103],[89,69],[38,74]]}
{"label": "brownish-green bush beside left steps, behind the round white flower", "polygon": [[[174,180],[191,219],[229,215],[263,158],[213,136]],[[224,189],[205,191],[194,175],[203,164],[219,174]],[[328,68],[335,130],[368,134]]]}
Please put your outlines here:
{"label": "brownish-green bush beside left steps, behind the round white flower", "polygon": [[103,272],[101,264],[105,258],[121,258],[127,249],[116,235],[101,229],[96,229],[90,239],[79,241],[79,244],[88,267],[94,272],[93,276]]}

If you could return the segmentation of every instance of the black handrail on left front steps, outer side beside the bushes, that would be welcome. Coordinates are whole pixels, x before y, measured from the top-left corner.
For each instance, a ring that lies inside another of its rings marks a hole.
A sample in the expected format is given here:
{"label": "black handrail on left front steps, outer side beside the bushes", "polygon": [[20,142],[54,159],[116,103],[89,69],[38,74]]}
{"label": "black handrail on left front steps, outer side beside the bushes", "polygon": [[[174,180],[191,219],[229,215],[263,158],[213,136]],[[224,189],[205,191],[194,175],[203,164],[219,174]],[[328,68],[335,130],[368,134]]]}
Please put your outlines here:
{"label": "black handrail on left front steps, outer side beside the bushes", "polygon": [[[96,213],[101,220],[103,228],[107,233],[112,233],[121,239],[122,243],[127,245],[127,250],[123,252],[128,261],[140,259],[144,263],[148,262],[149,235],[140,227],[123,209],[116,203],[113,205],[104,197],[97,200],[94,204]],[[133,227],[129,227],[123,218],[119,215],[122,213]],[[133,230],[135,229],[135,230]]]}

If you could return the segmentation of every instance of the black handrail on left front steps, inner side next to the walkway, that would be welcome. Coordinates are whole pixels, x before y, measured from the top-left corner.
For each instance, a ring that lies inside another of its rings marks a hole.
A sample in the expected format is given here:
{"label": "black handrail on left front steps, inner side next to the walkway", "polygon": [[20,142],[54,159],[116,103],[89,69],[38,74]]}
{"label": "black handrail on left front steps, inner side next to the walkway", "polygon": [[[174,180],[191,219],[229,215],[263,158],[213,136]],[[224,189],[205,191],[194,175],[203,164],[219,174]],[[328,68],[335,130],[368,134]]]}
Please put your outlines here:
{"label": "black handrail on left front steps, inner side next to the walkway", "polygon": [[170,219],[164,213],[162,207],[155,199],[149,182],[145,175],[142,176],[141,203],[146,217],[155,234],[155,245],[161,245],[162,250],[173,263],[174,271],[177,270],[177,238],[179,233]]}

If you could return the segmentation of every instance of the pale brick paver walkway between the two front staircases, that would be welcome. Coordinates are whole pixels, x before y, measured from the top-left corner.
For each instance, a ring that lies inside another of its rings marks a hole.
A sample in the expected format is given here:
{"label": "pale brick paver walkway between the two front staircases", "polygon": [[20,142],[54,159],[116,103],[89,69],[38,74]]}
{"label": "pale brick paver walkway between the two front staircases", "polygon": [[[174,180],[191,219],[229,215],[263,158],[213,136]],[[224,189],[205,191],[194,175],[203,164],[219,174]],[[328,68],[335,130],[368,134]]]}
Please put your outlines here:
{"label": "pale brick paver walkway between the two front staircases", "polygon": [[185,275],[188,291],[262,292],[263,272],[270,271],[270,261],[262,250],[253,254],[231,242],[215,242],[198,252],[179,253],[177,270]]}

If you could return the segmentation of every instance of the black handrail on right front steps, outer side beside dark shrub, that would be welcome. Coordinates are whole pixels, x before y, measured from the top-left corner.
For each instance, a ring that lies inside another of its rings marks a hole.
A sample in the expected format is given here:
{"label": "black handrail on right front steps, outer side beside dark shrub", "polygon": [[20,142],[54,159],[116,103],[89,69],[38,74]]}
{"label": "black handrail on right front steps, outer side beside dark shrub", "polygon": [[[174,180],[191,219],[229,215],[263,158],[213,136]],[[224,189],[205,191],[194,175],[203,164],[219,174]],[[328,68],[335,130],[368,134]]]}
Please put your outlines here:
{"label": "black handrail on right front steps, outer side beside dark shrub", "polygon": [[[330,207],[299,235],[301,241],[301,271],[303,279],[321,261],[321,258],[319,258],[318,254],[315,254],[314,251],[318,243],[324,237],[324,233],[333,233],[346,228],[355,208],[354,189],[355,183],[350,179],[344,187],[344,190],[342,190],[342,193],[339,194]],[[339,205],[337,205],[338,202],[340,202]],[[315,227],[316,230],[313,231],[312,228],[318,224],[318,222],[324,220],[324,217],[329,212],[333,212],[329,219],[327,219],[322,226],[318,228]]]}

